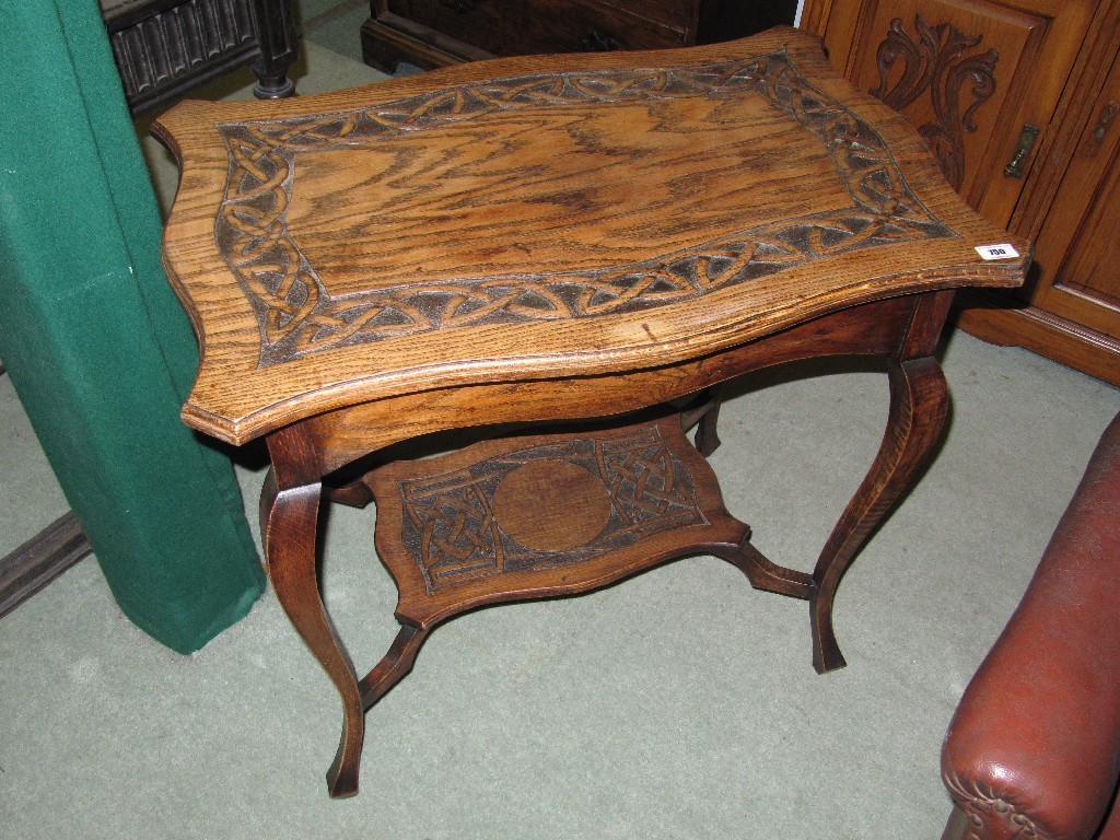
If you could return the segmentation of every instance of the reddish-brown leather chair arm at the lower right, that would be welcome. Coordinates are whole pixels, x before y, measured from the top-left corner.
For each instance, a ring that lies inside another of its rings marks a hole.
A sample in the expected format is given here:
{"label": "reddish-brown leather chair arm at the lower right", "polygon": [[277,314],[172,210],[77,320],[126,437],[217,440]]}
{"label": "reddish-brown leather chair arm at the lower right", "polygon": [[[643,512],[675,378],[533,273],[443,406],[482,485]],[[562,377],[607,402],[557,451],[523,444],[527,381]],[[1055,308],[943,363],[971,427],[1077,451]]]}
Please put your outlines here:
{"label": "reddish-brown leather chair arm at the lower right", "polygon": [[969,683],[943,840],[1120,840],[1120,416]]}

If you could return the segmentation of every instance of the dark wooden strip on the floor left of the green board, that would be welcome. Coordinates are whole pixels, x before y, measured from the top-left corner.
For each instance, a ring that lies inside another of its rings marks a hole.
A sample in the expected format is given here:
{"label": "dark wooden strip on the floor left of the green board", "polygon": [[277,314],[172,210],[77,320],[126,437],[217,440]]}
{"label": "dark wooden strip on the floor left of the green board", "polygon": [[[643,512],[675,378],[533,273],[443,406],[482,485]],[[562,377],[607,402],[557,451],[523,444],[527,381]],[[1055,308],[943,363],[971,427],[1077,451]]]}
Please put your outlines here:
{"label": "dark wooden strip on the floor left of the green board", "polygon": [[92,552],[73,512],[67,512],[0,559],[0,617],[8,615]]}

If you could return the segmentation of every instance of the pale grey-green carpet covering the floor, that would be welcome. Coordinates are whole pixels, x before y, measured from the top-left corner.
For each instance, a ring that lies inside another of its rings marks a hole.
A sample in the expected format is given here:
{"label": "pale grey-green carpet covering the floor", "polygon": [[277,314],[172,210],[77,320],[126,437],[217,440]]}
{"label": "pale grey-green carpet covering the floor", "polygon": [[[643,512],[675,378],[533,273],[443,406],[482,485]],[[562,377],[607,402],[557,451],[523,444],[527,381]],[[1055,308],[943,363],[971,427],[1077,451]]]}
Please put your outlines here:
{"label": "pale grey-green carpet covering the floor", "polygon": [[[307,54],[304,92],[376,77]],[[337,698],[271,592],[180,657],[119,614],[91,559],[0,619],[0,838],[937,838],[949,717],[1120,410],[1113,388],[967,335],[944,366],[940,455],[840,588],[847,669],[818,676],[804,603],[712,558],[479,610],[371,711],[362,793],[332,802]],[[810,569],[885,418],[875,372],[741,381],[712,458],[728,507]],[[65,505],[2,380],[0,419],[15,545]],[[250,511],[259,454],[240,467]],[[372,532],[372,512],[334,510],[324,557],[360,671],[395,629]]]}

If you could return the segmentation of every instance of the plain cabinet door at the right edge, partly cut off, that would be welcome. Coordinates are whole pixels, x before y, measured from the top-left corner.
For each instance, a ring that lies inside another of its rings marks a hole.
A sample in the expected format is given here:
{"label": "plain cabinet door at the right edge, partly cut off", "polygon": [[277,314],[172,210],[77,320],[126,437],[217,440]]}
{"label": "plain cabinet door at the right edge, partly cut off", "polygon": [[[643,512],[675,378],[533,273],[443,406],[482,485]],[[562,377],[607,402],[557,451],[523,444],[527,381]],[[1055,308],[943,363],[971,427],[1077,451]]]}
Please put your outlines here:
{"label": "plain cabinet door at the right edge, partly cut off", "polygon": [[1036,242],[1032,302],[1120,338],[1120,60]]}

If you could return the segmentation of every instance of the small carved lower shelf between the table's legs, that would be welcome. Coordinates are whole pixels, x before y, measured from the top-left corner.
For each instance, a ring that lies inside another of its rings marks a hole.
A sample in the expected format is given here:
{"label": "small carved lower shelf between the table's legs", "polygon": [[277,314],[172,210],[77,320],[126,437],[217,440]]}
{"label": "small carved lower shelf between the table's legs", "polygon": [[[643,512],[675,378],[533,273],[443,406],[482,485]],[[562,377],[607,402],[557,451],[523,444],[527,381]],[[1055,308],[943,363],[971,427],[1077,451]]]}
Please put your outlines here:
{"label": "small carved lower shelf between the table's legs", "polygon": [[764,589],[808,598],[724,507],[679,414],[610,429],[487,440],[363,479],[398,618],[421,628],[485,604],[570,595],[668,560],[715,554]]}

